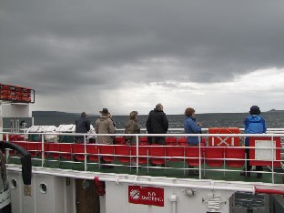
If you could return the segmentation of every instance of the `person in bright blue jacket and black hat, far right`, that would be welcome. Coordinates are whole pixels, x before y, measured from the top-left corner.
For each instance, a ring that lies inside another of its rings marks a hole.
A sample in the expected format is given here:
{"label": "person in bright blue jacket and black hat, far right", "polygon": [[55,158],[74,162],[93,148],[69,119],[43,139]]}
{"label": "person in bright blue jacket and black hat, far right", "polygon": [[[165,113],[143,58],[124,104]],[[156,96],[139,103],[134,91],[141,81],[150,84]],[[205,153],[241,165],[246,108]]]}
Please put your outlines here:
{"label": "person in bright blue jacket and black hat, far right", "polygon": [[[260,109],[259,106],[251,106],[249,110],[250,116],[245,119],[245,132],[247,134],[261,134],[266,133],[267,127],[266,122],[263,117],[260,117]],[[249,147],[249,137],[246,137],[245,146]],[[249,159],[249,148],[246,148],[247,159]],[[246,167],[244,171],[240,173],[241,176],[250,177],[250,169],[249,160],[247,160],[247,170]],[[262,171],[262,166],[256,166],[257,171]],[[258,178],[262,177],[262,173],[258,173]]]}

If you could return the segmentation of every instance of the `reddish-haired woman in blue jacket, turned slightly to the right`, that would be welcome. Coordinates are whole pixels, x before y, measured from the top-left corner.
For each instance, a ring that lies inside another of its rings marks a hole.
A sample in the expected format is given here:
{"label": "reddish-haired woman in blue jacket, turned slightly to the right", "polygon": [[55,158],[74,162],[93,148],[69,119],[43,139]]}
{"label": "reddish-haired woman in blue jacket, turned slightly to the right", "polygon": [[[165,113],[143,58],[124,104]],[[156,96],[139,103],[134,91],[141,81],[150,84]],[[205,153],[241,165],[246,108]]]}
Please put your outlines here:
{"label": "reddish-haired woman in blue jacket, turned slightly to the right", "polygon": [[[198,134],[201,133],[201,126],[200,122],[196,122],[197,119],[195,117],[195,110],[194,108],[188,107],[185,110],[186,119],[184,121],[184,129],[186,134]],[[200,138],[201,140],[201,138]],[[199,146],[199,138],[198,137],[187,137],[187,142],[189,146],[198,147]],[[193,166],[189,166],[188,168],[194,168]],[[190,169],[188,170],[188,175],[199,175],[197,169]]]}

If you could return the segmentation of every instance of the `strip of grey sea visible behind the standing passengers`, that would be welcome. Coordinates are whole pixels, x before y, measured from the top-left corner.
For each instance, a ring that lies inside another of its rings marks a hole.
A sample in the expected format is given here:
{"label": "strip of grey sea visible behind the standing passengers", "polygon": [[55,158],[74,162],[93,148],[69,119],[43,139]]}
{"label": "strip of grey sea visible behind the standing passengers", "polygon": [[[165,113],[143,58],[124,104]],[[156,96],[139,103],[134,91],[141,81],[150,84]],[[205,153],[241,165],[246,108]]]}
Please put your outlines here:
{"label": "strip of grey sea visible behind the standing passengers", "polygon": [[[45,115],[35,113],[35,125],[54,125],[58,127],[61,124],[75,124],[78,114],[58,114]],[[244,120],[249,116],[248,113],[208,113],[197,114],[197,121],[202,123],[202,127],[244,127]],[[284,111],[282,112],[264,112],[260,114],[266,120],[267,127],[284,127]],[[98,116],[88,116],[92,125],[95,125]],[[128,116],[113,116],[117,128],[124,128]],[[183,128],[184,115],[167,115],[170,128]],[[138,115],[138,123],[142,128],[146,127],[147,115]]]}

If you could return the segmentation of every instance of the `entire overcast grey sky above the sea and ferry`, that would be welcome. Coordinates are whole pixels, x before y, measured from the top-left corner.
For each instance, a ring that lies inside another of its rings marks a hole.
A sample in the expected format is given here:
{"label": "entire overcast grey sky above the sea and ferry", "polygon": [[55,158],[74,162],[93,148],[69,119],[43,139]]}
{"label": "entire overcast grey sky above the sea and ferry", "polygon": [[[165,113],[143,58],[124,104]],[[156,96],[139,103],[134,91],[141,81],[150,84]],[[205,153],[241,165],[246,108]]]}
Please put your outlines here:
{"label": "entire overcast grey sky above the sea and ferry", "polygon": [[0,83],[31,110],[284,109],[284,1],[0,0]]}

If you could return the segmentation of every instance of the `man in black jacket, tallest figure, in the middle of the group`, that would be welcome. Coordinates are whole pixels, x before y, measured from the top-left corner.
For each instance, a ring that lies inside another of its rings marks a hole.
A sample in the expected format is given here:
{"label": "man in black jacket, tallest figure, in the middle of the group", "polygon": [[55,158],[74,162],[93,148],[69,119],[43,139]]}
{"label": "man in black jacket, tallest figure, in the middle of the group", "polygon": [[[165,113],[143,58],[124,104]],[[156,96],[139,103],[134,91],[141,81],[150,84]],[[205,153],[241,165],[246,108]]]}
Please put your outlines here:
{"label": "man in black jacket, tallest figure, in the middle of the group", "polygon": [[[157,104],[154,110],[149,112],[147,122],[147,133],[148,134],[165,134],[168,129],[168,121],[167,116],[163,111],[163,106],[161,104]],[[148,141],[150,144],[161,144],[166,145],[165,137],[148,137]]]}

